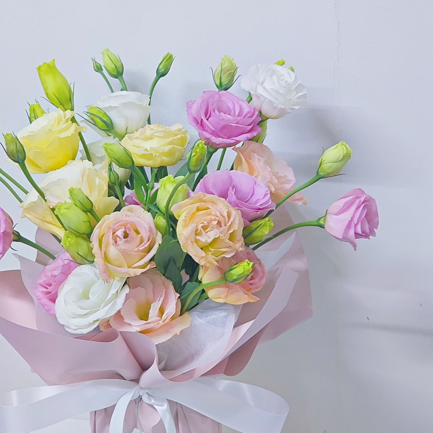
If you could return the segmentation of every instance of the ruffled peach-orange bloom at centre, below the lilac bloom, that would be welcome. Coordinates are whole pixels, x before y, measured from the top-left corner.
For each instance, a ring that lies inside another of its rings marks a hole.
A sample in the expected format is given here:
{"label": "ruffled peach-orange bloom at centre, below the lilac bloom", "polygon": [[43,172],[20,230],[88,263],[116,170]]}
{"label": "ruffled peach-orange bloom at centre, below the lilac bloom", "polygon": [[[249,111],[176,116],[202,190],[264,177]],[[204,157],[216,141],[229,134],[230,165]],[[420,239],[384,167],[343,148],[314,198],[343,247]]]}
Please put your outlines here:
{"label": "ruffled peach-orange bloom at centre, below the lilac bloom", "polygon": [[213,268],[223,257],[245,248],[239,210],[216,195],[198,193],[171,207],[178,219],[178,239],[184,252]]}

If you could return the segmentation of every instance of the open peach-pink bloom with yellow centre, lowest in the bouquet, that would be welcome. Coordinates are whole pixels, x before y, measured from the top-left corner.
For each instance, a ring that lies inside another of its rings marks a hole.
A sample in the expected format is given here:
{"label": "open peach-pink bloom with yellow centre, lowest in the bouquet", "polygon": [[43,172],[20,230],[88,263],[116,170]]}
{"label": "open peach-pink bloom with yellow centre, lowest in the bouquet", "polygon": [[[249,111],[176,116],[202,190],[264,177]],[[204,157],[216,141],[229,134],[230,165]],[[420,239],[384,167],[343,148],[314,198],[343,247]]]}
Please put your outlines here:
{"label": "open peach-pink bloom with yellow centre, lowest in the bouquet", "polygon": [[123,307],[109,320],[100,323],[101,330],[135,331],[146,334],[158,344],[190,326],[189,313],[180,315],[179,294],[161,272],[149,269],[129,278],[128,286]]}

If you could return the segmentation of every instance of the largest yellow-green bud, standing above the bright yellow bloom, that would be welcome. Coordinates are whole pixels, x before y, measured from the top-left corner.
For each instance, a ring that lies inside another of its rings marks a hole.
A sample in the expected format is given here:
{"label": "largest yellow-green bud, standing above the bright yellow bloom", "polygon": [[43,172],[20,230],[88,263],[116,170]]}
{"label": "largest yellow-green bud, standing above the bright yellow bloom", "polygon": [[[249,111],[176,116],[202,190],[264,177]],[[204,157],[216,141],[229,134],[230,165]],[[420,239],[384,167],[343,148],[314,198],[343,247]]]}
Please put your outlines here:
{"label": "largest yellow-green bud, standing above the bright yellow bloom", "polygon": [[74,94],[65,76],[57,69],[55,60],[37,67],[39,80],[48,100],[61,110],[74,110]]}

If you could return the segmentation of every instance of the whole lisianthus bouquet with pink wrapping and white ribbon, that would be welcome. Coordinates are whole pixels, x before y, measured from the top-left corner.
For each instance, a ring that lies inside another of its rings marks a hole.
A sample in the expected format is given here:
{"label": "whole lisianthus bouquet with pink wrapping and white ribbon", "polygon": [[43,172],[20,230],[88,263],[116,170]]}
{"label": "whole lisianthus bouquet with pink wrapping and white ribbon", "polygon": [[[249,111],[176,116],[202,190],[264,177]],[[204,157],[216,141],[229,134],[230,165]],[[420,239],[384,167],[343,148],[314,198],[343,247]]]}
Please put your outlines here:
{"label": "whole lisianthus bouquet with pink wrapping and white ribbon", "polygon": [[[0,333],[47,386],[1,396],[0,430],[26,433],[91,412],[93,433],[217,433],[222,424],[280,432],[281,397],[222,376],[312,314],[295,229],[324,228],[354,248],[375,236],[375,200],[361,189],[314,221],[295,224],[284,206],[306,204],[301,191],[338,175],[352,151],[345,142],[326,150],[295,187],[292,169],[263,144],[269,121],[305,105],[284,61],[253,66],[240,81],[243,100],[229,92],[238,68],[225,56],[213,72],[217,90],[187,102],[197,132],[187,149],[182,125],[151,122],[173,55],[148,95],[128,91],[120,58],[102,55],[93,67],[108,96],[75,113],[73,87],[54,60],[44,63],[39,78],[55,109],[30,105],[29,125],[4,135],[30,187],[2,169],[0,181],[39,228],[27,239],[0,209],[0,258],[14,242],[38,250],[35,262],[17,256],[20,271],[1,272]],[[88,142],[87,128],[101,138]],[[37,183],[32,174],[41,173]]]}

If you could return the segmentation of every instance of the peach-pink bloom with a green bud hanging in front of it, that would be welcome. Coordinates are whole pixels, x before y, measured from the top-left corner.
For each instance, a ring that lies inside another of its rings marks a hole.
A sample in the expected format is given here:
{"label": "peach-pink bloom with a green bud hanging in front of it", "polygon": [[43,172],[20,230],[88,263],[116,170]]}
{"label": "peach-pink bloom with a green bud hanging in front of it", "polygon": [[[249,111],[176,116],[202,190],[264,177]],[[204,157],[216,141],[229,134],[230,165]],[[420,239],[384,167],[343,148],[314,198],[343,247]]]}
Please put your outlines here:
{"label": "peach-pink bloom with a green bud hanging in front of it", "polygon": [[265,284],[268,275],[265,265],[258,259],[257,255],[251,248],[236,252],[232,257],[224,257],[213,268],[200,266],[199,278],[202,283],[210,283],[224,277],[224,273],[230,266],[235,263],[249,260],[255,263],[252,267],[252,274],[244,281],[239,283],[223,283],[206,288],[206,293],[216,302],[226,302],[227,304],[245,304],[246,302],[255,302],[259,298],[252,293],[259,291]]}

